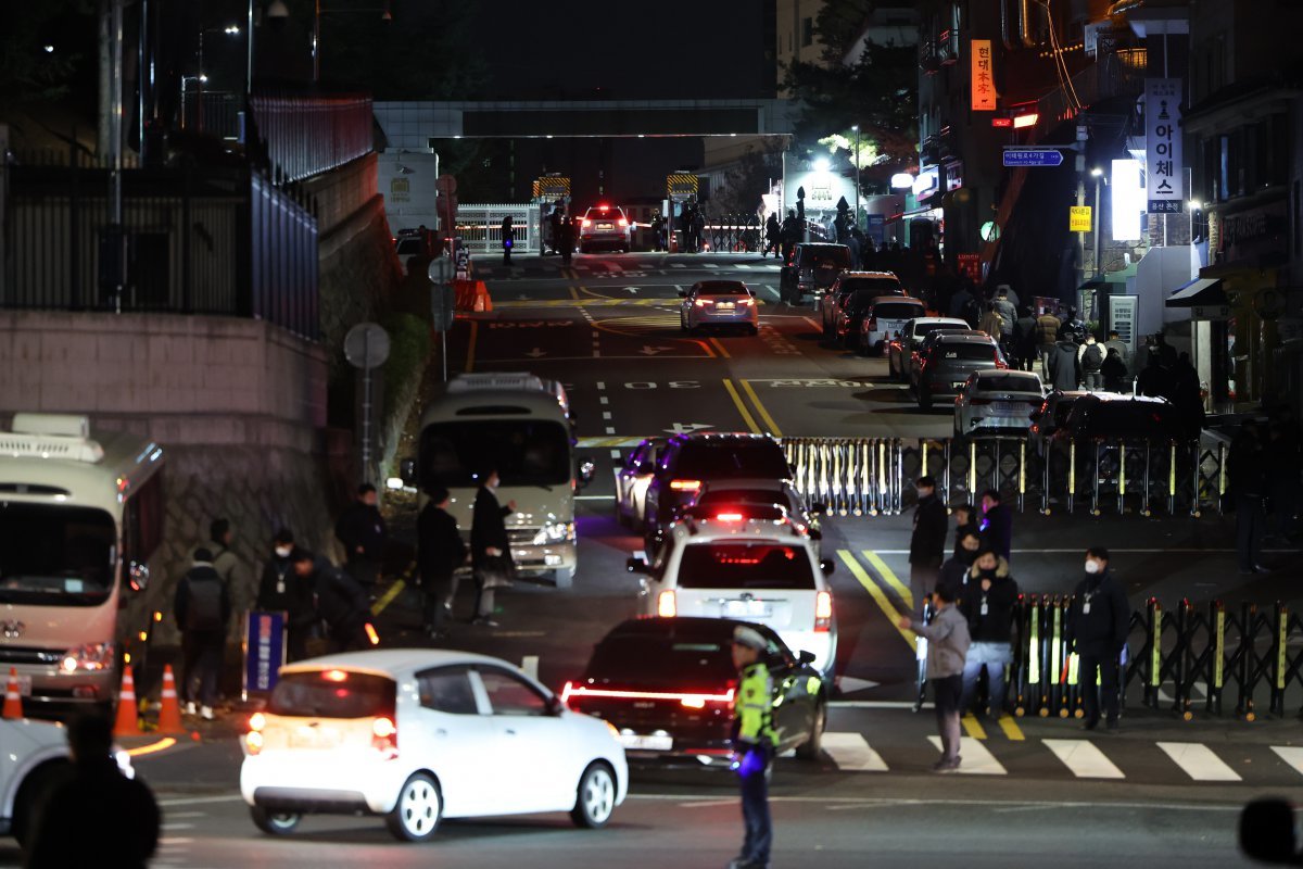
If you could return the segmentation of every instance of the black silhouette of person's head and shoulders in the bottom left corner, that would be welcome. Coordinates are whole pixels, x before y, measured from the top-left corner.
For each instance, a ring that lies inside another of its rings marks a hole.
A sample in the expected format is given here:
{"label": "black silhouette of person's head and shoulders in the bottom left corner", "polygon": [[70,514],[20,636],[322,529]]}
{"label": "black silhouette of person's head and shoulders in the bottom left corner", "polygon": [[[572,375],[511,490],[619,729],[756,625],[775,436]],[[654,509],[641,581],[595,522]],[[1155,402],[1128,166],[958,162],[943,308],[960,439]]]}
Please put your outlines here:
{"label": "black silhouette of person's head and shoulders in the bottom left corner", "polygon": [[[139,775],[113,757],[113,726],[89,713],[68,724],[72,761],[36,803],[27,869],[143,869],[158,849],[162,814]],[[76,818],[76,826],[69,821]]]}

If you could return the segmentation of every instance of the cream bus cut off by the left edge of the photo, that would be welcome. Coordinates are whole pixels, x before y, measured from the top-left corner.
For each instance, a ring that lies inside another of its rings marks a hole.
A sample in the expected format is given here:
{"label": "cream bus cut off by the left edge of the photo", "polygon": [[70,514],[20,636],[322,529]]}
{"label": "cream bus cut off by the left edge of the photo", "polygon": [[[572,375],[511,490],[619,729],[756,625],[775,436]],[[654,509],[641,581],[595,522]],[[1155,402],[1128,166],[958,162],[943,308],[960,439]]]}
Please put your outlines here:
{"label": "cream bus cut off by the left edge of the photo", "polygon": [[117,697],[152,619],[133,618],[163,533],[163,449],[81,416],[18,413],[0,431],[0,674],[29,713]]}

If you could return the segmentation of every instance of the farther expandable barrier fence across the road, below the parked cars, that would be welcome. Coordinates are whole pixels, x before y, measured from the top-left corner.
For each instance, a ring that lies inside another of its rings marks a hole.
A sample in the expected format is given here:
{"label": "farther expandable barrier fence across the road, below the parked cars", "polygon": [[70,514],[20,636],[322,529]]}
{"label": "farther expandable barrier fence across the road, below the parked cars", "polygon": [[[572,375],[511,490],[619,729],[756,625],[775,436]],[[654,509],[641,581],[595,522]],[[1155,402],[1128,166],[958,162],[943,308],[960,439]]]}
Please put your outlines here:
{"label": "farther expandable barrier fence across the road, below the parked cars", "polygon": [[807,503],[840,516],[903,512],[925,473],[947,503],[995,489],[1019,511],[1042,513],[1200,516],[1221,511],[1226,494],[1225,444],[1027,438],[783,438],[782,444]]}

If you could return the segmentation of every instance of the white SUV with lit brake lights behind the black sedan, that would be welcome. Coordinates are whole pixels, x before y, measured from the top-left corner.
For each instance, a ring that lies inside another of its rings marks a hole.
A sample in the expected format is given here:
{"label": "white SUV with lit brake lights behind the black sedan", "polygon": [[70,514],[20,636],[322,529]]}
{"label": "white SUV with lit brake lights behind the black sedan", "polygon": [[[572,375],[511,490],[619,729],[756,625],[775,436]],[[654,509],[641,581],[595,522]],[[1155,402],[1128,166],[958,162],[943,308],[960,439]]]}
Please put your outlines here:
{"label": "white SUV with lit brake lights behind the black sedan", "polygon": [[648,565],[637,555],[644,616],[743,619],[773,628],[792,651],[809,651],[831,677],[837,620],[817,541],[775,506],[689,511],[666,529],[665,546]]}

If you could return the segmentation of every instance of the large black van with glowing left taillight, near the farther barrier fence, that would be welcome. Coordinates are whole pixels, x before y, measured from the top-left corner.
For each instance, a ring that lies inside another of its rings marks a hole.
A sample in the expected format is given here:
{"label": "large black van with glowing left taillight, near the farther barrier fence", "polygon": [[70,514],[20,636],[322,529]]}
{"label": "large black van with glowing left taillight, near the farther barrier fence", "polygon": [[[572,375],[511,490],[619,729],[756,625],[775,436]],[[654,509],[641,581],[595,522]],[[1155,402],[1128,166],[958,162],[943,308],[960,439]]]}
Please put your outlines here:
{"label": "large black van with glowing left taillight, near the farther barrier fence", "polygon": [[787,456],[777,440],[756,434],[683,434],[670,438],[644,498],[649,552],[674,511],[696,500],[706,482],[788,479]]}

